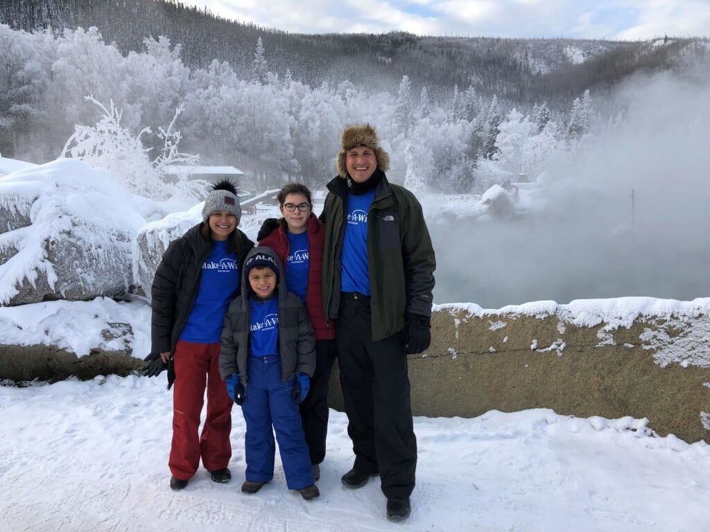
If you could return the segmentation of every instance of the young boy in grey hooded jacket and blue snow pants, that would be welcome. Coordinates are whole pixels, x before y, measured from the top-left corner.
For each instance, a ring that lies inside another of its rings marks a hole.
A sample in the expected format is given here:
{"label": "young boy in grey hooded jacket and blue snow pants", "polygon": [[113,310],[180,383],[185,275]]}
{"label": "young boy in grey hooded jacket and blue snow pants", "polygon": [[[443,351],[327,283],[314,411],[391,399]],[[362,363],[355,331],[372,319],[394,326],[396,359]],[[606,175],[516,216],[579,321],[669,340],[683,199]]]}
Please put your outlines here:
{"label": "young boy in grey hooded jacket and blue snow pants", "polygon": [[256,493],[273,478],[275,431],[288,489],[310,501],[320,492],[298,405],[315,370],[315,338],[300,297],[287,292],[280,279],[283,268],[271,248],[246,255],[241,295],[224,316],[219,372],[246,421],[241,491]]}

